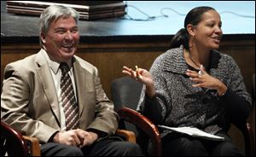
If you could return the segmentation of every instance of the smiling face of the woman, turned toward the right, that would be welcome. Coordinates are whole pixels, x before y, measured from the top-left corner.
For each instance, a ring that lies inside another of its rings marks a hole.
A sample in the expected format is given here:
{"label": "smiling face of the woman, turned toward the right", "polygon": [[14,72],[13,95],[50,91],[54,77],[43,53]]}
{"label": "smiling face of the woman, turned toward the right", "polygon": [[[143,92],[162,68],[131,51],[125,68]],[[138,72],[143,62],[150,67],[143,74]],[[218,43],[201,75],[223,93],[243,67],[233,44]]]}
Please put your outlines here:
{"label": "smiling face of the woman, turned toward the right", "polygon": [[221,20],[218,13],[209,10],[201,16],[201,21],[195,26],[195,44],[204,49],[218,49],[223,35]]}

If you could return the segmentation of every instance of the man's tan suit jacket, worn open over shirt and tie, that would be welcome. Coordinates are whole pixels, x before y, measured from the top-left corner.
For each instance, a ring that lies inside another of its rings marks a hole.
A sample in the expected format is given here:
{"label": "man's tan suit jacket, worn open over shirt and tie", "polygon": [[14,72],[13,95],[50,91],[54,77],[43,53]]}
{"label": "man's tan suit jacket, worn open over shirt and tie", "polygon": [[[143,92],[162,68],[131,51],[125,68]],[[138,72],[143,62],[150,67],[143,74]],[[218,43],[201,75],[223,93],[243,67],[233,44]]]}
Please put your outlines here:
{"label": "man's tan suit jacket, worn open over shirt and tie", "polygon": [[[55,131],[60,131],[61,116],[55,84],[43,51],[5,67],[1,120],[27,136],[48,142]],[[79,128],[112,135],[118,127],[119,117],[102,89],[97,68],[74,55],[73,71],[79,102]]]}

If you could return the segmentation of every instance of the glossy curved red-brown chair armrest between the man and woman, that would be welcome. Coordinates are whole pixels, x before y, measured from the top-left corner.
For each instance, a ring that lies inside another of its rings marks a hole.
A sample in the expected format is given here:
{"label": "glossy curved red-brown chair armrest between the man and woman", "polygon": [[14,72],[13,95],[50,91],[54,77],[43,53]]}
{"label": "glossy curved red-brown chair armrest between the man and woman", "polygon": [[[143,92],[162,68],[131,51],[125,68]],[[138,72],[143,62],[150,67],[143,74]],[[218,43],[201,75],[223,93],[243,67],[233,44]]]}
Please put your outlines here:
{"label": "glossy curved red-brown chair armrest between the man and woman", "polygon": [[130,122],[133,125],[137,125],[142,131],[144,131],[148,137],[152,140],[154,152],[153,155],[161,155],[161,138],[158,128],[143,114],[131,108],[120,108],[119,113],[120,119]]}

